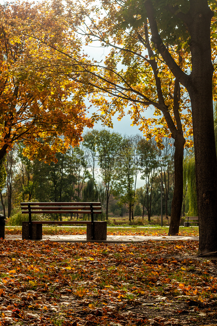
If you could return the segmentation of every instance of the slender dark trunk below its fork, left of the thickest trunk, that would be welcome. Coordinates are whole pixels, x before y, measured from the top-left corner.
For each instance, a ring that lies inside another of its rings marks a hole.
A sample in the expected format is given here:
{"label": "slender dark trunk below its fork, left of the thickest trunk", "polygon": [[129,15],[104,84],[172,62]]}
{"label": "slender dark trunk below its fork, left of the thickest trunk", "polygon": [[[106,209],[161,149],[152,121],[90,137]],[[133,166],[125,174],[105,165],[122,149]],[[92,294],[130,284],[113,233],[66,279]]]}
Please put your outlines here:
{"label": "slender dark trunk below its fork, left of the thickest trunk", "polygon": [[183,155],[185,139],[182,134],[175,137],[174,146],[174,194],[168,235],[178,234],[183,198]]}

